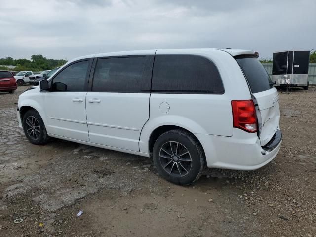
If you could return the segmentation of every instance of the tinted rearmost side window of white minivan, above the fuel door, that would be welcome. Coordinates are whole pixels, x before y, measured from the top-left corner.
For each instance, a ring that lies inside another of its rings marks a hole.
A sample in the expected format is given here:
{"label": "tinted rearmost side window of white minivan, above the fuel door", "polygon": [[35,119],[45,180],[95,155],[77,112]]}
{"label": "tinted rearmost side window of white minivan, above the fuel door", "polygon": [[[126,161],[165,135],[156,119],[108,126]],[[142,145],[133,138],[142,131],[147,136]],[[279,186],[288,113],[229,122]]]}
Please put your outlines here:
{"label": "tinted rearmost side window of white minivan, above the fuel door", "polygon": [[197,55],[156,55],[152,91],[174,93],[224,92],[216,66]]}

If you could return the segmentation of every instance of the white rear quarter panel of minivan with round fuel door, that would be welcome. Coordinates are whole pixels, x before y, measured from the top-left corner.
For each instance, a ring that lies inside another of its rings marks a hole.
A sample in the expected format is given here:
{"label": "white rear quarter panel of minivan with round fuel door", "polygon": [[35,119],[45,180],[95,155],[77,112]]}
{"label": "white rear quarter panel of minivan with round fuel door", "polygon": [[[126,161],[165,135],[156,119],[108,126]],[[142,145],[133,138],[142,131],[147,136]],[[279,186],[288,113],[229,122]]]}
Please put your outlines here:
{"label": "white rear quarter panel of minivan with round fuel door", "polygon": [[[230,137],[233,135],[232,100],[251,99],[248,84],[236,60],[221,50],[157,50],[156,54],[194,54],[210,59],[219,70],[224,94],[169,94],[152,93],[150,118],[144,125],[139,148],[149,152],[148,142],[152,132],[163,125],[175,125],[194,134],[210,134]],[[164,113],[166,102],[169,111]],[[163,103],[161,105],[161,103]],[[160,106],[161,105],[161,106]]]}

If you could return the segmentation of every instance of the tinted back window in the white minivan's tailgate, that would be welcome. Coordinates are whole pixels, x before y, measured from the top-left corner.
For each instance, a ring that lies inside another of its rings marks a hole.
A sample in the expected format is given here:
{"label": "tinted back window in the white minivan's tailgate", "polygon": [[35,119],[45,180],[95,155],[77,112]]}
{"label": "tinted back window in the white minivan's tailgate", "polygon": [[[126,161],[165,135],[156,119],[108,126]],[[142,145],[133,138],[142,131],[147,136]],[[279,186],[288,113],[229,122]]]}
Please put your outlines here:
{"label": "tinted back window in the white minivan's tailgate", "polygon": [[252,93],[258,93],[273,88],[272,80],[256,57],[248,55],[236,56],[235,59],[242,69]]}

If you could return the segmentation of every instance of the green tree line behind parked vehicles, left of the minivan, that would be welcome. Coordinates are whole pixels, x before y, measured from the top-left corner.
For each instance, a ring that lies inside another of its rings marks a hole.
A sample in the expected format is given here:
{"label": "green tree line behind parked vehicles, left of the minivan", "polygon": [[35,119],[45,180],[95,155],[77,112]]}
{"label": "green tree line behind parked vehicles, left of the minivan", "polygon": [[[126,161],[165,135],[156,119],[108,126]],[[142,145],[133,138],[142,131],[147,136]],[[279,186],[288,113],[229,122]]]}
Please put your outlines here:
{"label": "green tree line behind parked vehicles, left of the minivan", "polygon": [[[13,59],[12,57],[0,58],[0,65],[13,65],[15,66],[14,71],[35,71],[40,72],[43,70],[51,70],[58,66],[62,66],[67,63],[64,59],[48,59],[43,55],[32,55],[31,60],[29,59]],[[1,67],[2,70],[12,70],[7,67]]]}

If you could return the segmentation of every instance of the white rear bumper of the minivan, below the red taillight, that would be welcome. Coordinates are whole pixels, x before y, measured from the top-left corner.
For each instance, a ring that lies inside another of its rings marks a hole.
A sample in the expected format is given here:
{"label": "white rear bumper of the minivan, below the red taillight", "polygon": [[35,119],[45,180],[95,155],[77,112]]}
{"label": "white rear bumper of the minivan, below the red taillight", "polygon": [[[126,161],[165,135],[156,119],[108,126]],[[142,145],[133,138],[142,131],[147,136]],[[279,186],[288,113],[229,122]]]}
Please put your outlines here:
{"label": "white rear bumper of the minivan, below the red taillight", "polygon": [[257,134],[249,134],[235,128],[232,137],[195,135],[203,146],[209,168],[259,169],[276,157],[282,143],[280,136],[273,147],[261,147]]}

